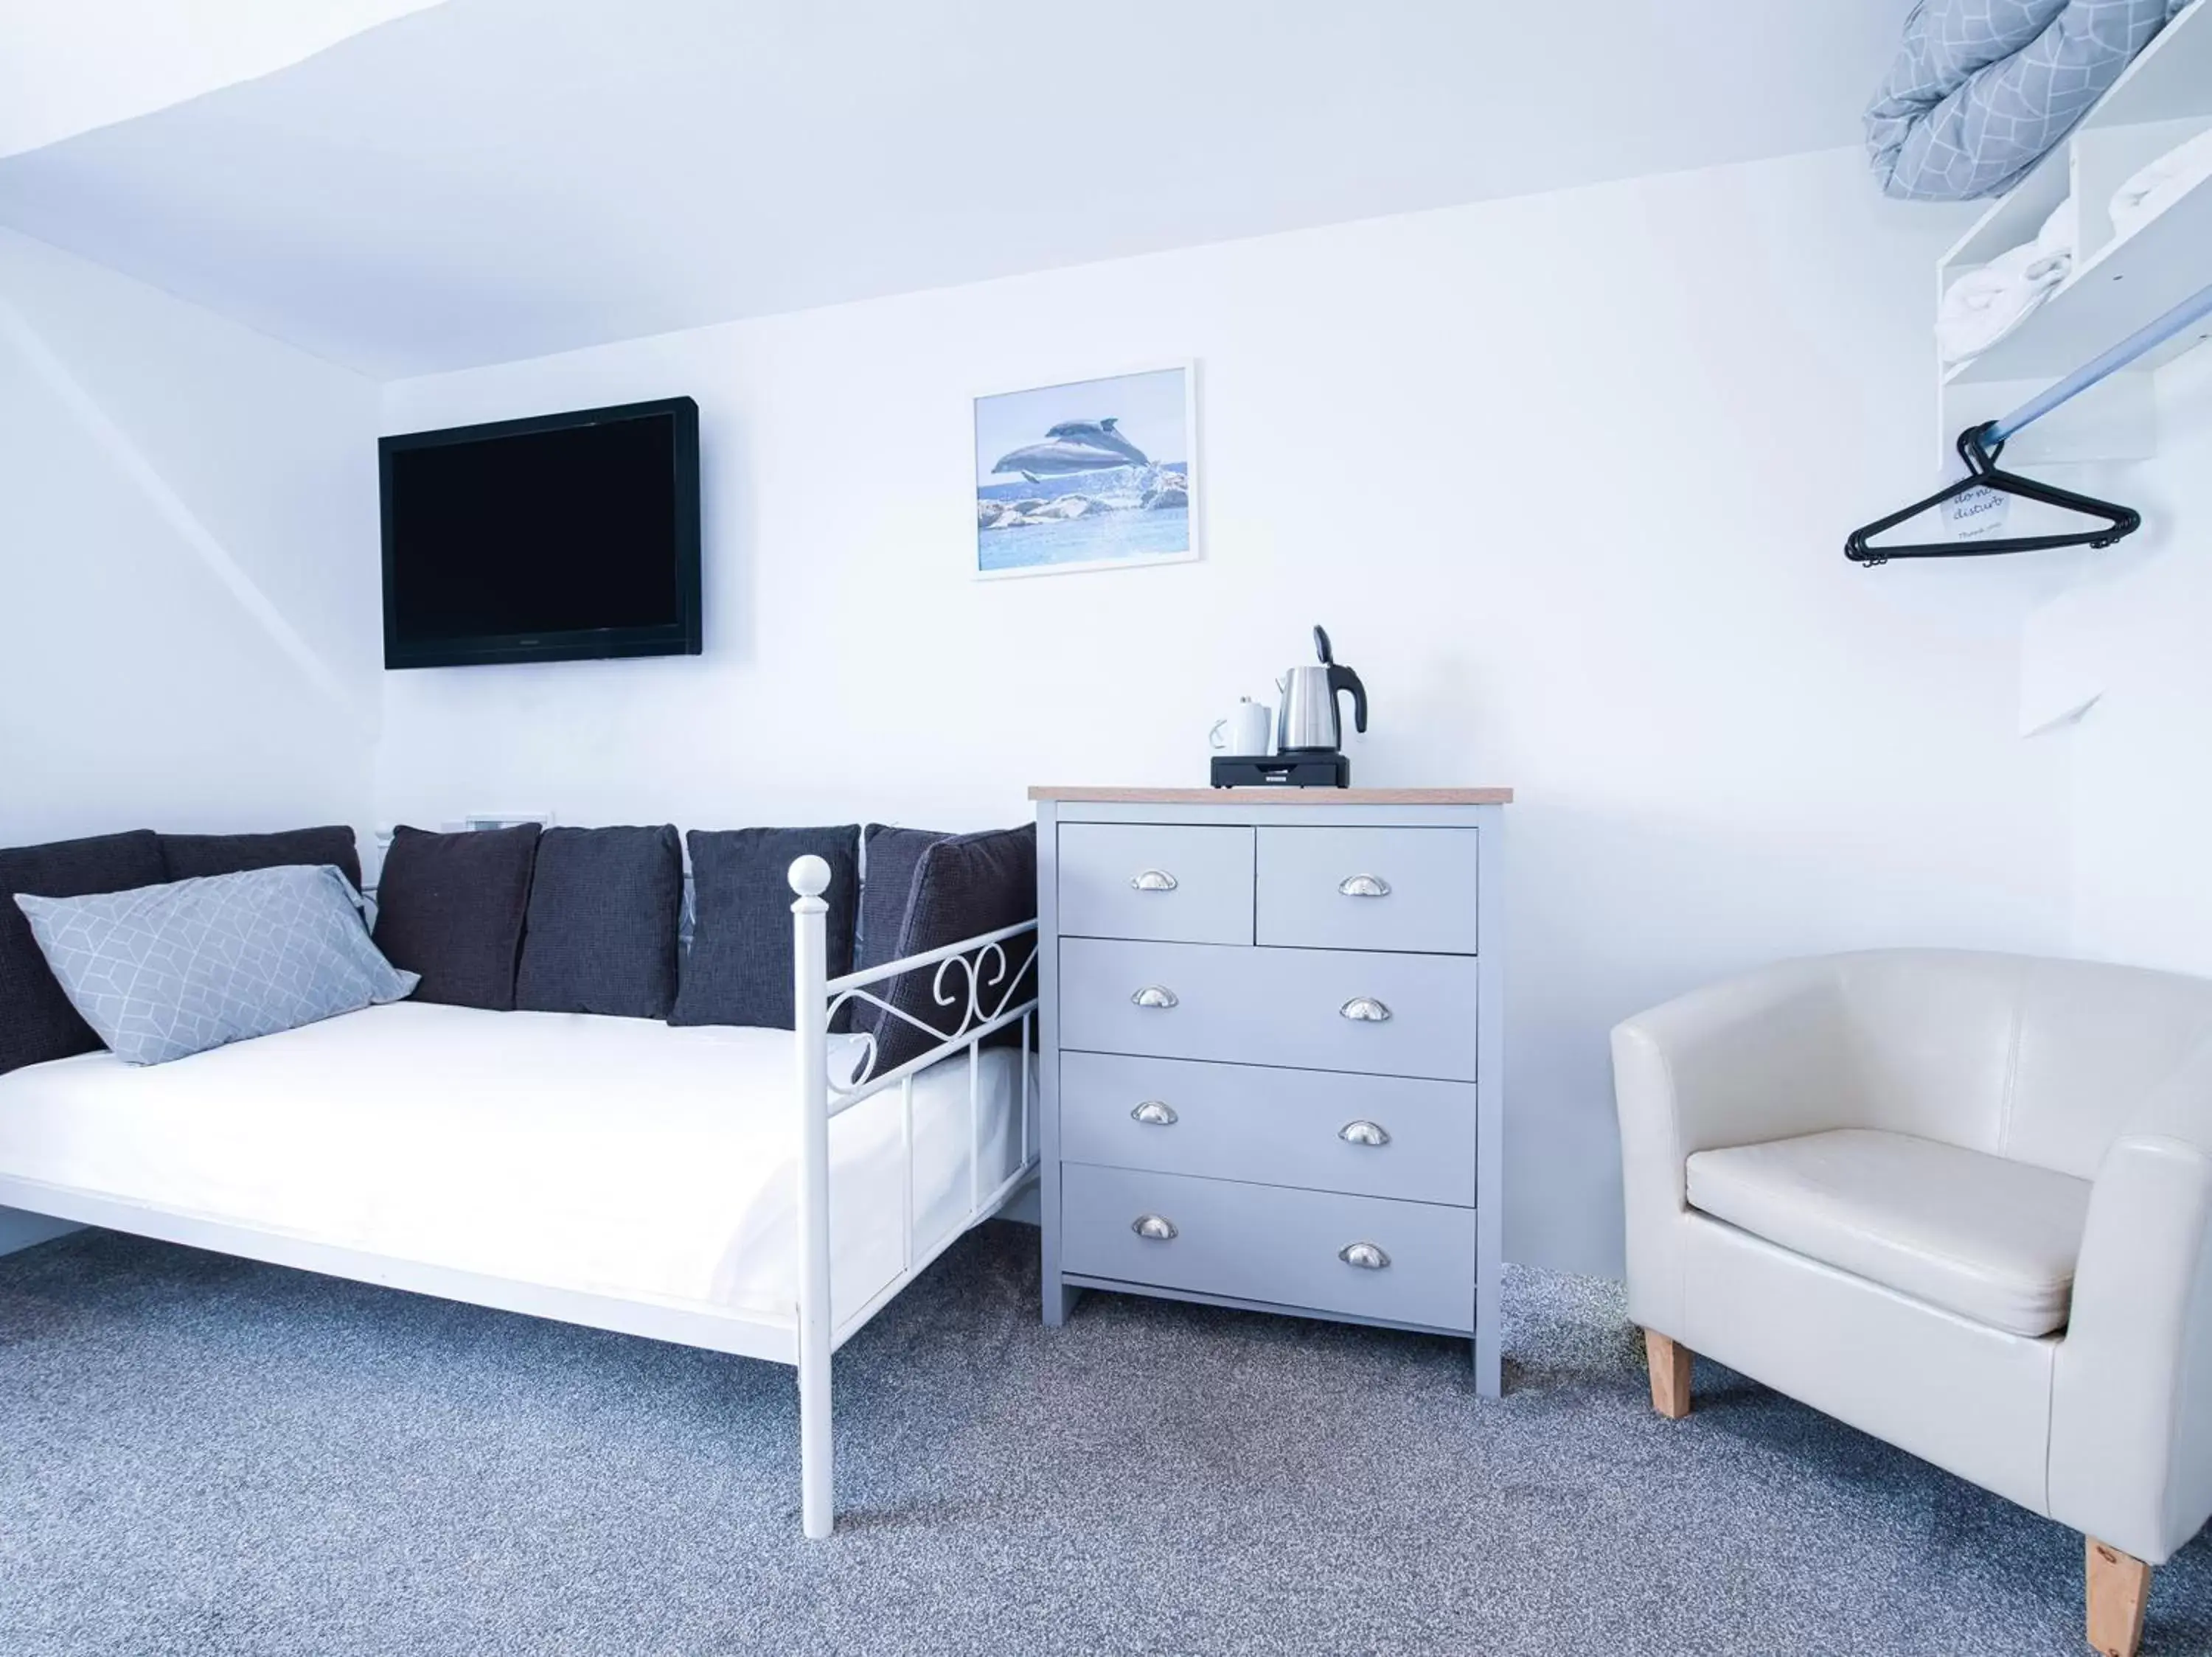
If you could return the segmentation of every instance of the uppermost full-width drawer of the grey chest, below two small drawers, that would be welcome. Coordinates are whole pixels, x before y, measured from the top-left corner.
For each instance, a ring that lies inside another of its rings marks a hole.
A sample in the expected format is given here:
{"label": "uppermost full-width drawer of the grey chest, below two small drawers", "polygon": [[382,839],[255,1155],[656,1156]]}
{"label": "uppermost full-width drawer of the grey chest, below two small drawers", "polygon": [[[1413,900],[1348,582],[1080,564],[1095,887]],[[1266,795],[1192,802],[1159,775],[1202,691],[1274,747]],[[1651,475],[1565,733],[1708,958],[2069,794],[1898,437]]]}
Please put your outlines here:
{"label": "uppermost full-width drawer of the grey chest, below two small drawers", "polygon": [[1473,1082],[1475,971],[1471,956],[1062,938],[1060,1046]]}

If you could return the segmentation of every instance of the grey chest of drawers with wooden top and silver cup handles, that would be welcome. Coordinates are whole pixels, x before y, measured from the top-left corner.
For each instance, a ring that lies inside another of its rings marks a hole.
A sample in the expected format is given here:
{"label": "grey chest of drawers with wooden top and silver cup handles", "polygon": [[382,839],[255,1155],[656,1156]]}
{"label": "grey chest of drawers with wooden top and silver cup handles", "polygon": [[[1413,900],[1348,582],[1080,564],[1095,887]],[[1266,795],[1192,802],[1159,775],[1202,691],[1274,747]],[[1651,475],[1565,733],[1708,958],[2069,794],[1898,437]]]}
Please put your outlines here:
{"label": "grey chest of drawers with wooden top and silver cup handles", "polygon": [[1433,1330],[1500,1389],[1509,790],[1033,788],[1044,1321]]}

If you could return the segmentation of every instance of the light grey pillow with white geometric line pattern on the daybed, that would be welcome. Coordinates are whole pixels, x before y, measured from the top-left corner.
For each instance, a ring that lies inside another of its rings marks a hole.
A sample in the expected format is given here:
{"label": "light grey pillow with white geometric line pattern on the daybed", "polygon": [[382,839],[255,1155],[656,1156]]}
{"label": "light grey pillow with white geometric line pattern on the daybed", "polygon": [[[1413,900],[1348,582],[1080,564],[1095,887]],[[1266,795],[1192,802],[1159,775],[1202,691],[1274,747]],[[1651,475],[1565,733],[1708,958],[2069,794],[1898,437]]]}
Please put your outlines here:
{"label": "light grey pillow with white geometric line pattern on the daybed", "polygon": [[124,1064],[314,1024],[416,987],[334,867],[290,865],[15,903],[62,993]]}

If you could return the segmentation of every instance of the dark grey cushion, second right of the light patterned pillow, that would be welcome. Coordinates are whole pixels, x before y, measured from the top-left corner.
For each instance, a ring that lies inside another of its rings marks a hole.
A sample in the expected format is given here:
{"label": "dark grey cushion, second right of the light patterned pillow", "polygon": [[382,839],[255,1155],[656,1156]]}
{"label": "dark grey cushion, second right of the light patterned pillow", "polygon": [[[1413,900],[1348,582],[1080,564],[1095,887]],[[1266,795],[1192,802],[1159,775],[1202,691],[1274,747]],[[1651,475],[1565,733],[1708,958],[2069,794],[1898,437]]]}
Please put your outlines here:
{"label": "dark grey cushion, second right of the light patterned pillow", "polygon": [[684,847],[659,827],[546,830],[531,874],[515,1007],[668,1018]]}

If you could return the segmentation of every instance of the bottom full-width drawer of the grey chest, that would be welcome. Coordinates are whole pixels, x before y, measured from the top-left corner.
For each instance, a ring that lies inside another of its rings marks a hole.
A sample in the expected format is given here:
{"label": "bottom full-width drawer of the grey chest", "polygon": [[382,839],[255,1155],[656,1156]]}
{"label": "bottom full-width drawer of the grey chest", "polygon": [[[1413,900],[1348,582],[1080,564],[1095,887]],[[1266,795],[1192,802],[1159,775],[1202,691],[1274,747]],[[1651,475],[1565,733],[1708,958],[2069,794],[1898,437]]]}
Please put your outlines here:
{"label": "bottom full-width drawer of the grey chest", "polygon": [[[1068,1164],[1060,1190],[1068,1272],[1455,1334],[1475,1325],[1473,1208],[1086,1164]],[[1139,1232],[1148,1221],[1157,1237]]]}

